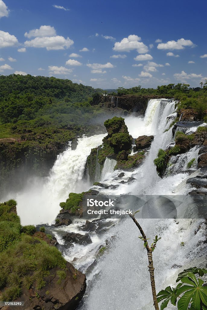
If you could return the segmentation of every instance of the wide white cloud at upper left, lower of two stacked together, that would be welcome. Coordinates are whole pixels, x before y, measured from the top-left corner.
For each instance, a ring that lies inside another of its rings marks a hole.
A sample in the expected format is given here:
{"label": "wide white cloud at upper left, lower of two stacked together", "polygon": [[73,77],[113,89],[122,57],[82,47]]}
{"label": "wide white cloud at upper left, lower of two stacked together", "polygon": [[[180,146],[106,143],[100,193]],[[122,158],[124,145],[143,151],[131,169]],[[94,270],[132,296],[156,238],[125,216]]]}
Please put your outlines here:
{"label": "wide white cloud at upper left, lower of two stacked together", "polygon": [[62,36],[35,38],[31,41],[24,42],[27,47],[45,47],[47,51],[64,50],[65,48],[69,48],[73,45],[73,43],[73,40],[70,40],[70,38],[65,39]]}

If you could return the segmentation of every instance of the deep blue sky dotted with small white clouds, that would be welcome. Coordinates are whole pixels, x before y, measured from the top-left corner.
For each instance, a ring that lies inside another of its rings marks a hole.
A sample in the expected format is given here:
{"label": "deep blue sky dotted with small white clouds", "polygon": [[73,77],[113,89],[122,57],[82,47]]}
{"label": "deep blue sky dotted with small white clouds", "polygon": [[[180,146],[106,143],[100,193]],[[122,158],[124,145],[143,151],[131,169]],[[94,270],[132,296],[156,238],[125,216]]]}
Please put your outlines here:
{"label": "deep blue sky dotted with small white clouds", "polygon": [[93,87],[199,86],[206,2],[0,0],[0,74]]}

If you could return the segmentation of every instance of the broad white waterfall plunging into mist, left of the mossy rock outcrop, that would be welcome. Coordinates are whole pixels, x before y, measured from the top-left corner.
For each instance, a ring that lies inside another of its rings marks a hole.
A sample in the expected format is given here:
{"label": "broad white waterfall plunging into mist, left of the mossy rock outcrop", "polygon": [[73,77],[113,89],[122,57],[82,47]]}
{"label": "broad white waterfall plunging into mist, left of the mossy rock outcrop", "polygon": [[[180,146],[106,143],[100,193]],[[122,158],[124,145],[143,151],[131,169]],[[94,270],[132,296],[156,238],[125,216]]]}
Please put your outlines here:
{"label": "broad white waterfall plunging into mist, left of the mossy rock outcrop", "polygon": [[75,150],[69,147],[57,156],[47,179],[32,179],[22,192],[9,193],[8,198],[2,199],[14,197],[18,201],[17,212],[22,225],[51,223],[59,213],[59,203],[65,201],[69,193],[81,193],[90,188],[90,184],[82,180],[87,156],[91,148],[102,143],[104,136],[79,138]]}

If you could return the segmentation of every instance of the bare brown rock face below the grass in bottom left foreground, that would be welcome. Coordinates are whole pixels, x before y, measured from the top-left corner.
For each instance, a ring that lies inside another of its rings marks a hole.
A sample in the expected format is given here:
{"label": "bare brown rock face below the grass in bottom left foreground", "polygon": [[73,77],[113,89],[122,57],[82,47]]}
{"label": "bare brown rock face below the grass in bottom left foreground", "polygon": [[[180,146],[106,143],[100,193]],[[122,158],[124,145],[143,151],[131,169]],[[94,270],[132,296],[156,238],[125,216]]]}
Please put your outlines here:
{"label": "bare brown rock face below the grass in bottom left foreground", "polygon": [[58,270],[59,268],[51,270],[51,275],[45,278],[44,289],[38,293],[33,288],[23,289],[19,300],[24,301],[25,310],[76,309],[86,290],[86,276],[67,262],[65,279],[59,283]]}

